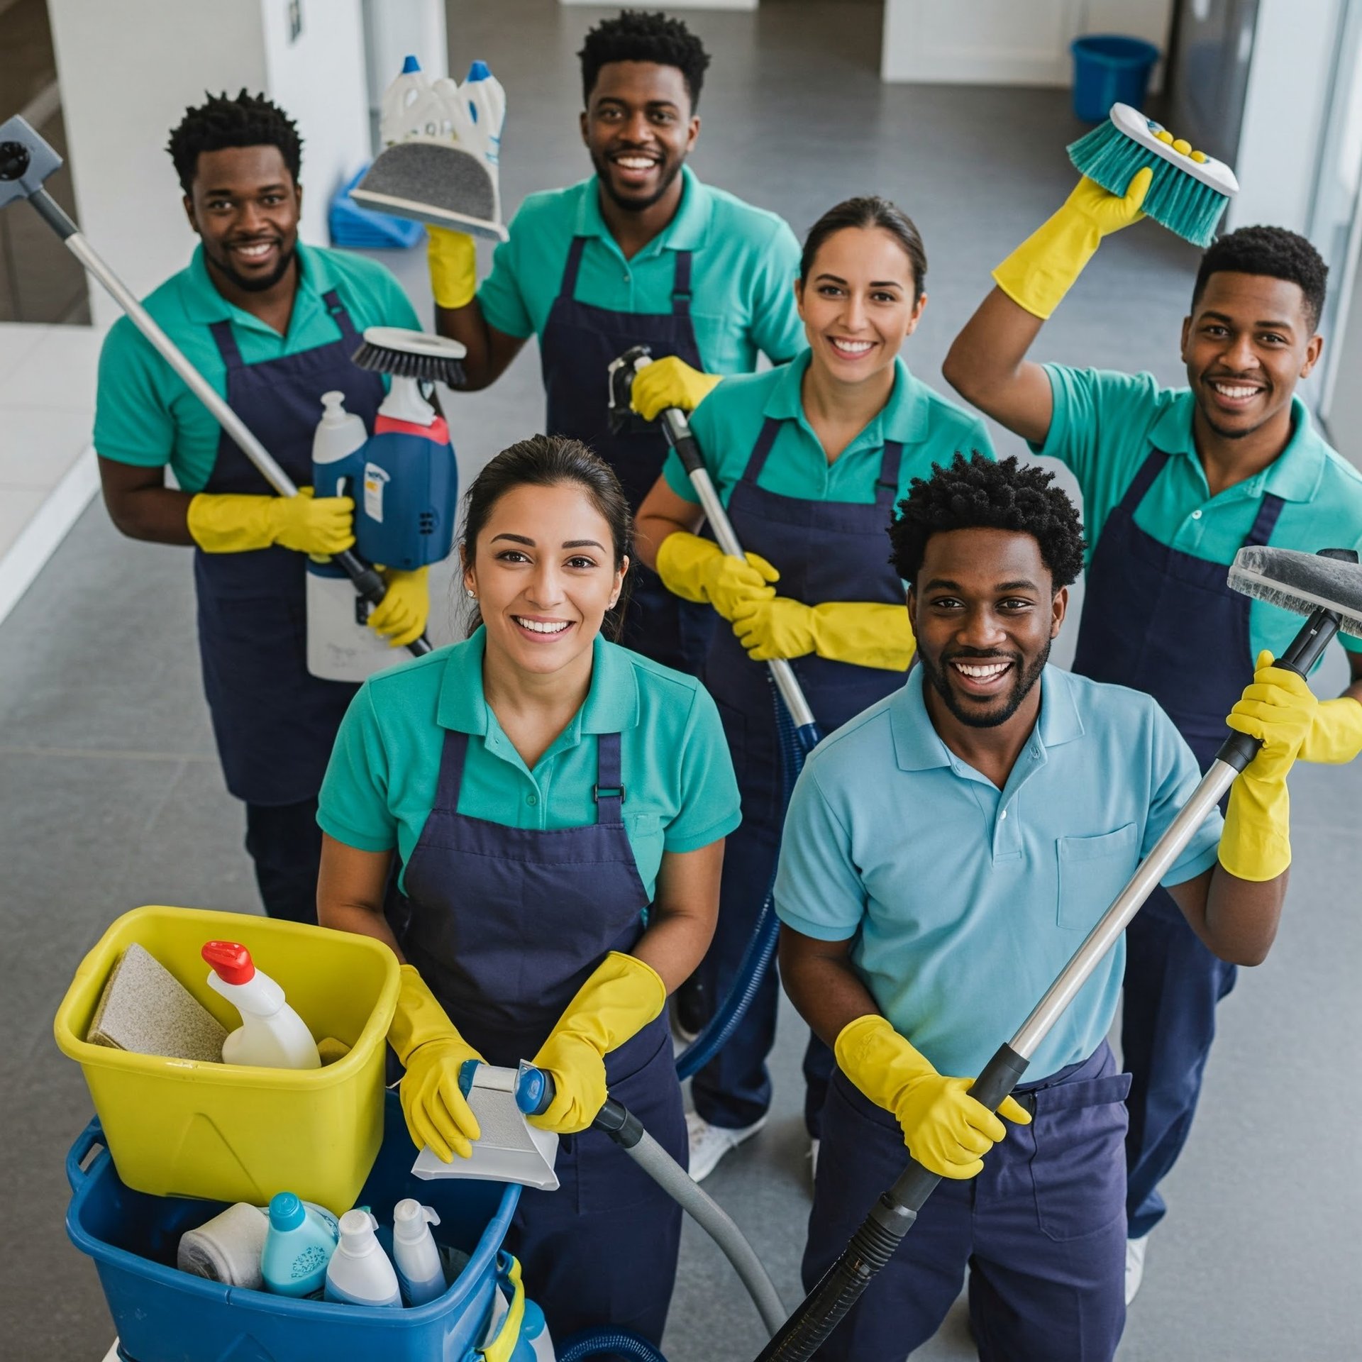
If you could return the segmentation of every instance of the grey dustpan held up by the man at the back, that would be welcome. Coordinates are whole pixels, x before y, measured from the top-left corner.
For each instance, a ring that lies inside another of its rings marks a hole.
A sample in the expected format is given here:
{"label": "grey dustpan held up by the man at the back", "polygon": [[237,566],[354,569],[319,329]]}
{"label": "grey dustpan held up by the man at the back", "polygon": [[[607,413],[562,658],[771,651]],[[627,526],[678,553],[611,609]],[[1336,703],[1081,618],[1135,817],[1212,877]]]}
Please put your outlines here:
{"label": "grey dustpan held up by the man at the back", "polygon": [[350,197],[376,212],[505,241],[496,170],[473,151],[413,138],[380,151]]}

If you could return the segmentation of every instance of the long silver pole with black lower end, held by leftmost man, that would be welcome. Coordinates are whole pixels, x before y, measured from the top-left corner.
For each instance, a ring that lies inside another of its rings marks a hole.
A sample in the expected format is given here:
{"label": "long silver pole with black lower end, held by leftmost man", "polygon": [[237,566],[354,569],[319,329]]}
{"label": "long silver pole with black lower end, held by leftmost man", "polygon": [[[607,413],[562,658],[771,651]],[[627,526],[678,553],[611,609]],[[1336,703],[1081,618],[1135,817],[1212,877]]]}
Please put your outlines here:
{"label": "long silver pole with black lower end, held by leftmost man", "polygon": [[[184,351],[161,330],[151,313],[142,306],[127,285],[109,268],[94,247],[86,241],[79,227],[67,217],[61,204],[46,189],[35,191],[29,196],[29,202],[48,226],[61,237],[67,249],[104,285],[113,301],[128,315],[132,324],[151,342],[157,354],[174,369],[189,391],[208,409],[208,414],[227,432],[233,443],[255,464],[260,477],[281,497],[296,497],[298,488],[293,478],[279,467],[274,455],[255,437],[255,433],[245,421],[227,406],[212,384],[185,358]],[[369,605],[377,605],[383,599],[385,594],[383,577],[351,549],[332,554],[332,563],[345,571],[346,576],[354,583],[355,591]],[[430,651],[430,642],[422,635],[414,643],[407,644],[407,650],[415,656],[424,656]]]}

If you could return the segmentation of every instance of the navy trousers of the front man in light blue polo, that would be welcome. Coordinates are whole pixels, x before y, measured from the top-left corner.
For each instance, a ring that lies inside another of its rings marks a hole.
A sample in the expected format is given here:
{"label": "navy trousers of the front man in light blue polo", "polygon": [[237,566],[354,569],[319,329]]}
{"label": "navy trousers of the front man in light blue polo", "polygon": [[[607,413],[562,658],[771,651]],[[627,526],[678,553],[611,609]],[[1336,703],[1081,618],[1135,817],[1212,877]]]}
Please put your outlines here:
{"label": "navy trousers of the front man in light blue polo", "polygon": [[[913,1231],[814,1354],[817,1362],[903,1362],[940,1328],[970,1278],[981,1362],[1110,1362],[1125,1325],[1125,1096],[1106,1041],[1080,1064],[1013,1094],[1030,1125],[944,1179]],[[812,1290],[903,1171],[893,1114],[832,1077],[804,1250]]]}

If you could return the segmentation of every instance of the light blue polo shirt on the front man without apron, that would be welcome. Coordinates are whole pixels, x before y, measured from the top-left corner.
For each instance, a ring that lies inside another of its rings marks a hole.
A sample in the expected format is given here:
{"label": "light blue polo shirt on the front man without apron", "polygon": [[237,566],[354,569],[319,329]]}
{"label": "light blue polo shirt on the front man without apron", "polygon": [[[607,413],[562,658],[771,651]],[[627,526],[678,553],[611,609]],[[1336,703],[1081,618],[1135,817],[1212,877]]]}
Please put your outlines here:
{"label": "light blue polo shirt on the front man without apron", "polygon": [[[780,840],[775,910],[851,960],[895,1031],[972,1077],[1017,1031],[1200,779],[1140,691],[1049,666],[1007,787],[937,735],[922,669],[809,756]],[[1214,809],[1163,877],[1215,864]],[[1036,1049],[1027,1080],[1086,1060],[1115,1015],[1125,940]]]}

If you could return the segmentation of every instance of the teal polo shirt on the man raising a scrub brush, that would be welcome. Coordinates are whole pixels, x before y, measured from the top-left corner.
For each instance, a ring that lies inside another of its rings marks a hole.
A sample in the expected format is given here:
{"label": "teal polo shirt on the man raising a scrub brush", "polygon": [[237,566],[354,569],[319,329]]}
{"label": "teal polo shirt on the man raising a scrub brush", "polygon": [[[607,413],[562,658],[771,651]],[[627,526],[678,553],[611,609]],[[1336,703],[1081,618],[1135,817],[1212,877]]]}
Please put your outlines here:
{"label": "teal polo shirt on the man raising a scrub brush", "polygon": [[[1272,546],[1317,553],[1362,549],[1362,473],[1324,443],[1305,403],[1291,407],[1291,439],[1261,473],[1211,496],[1192,439],[1196,399],[1189,388],[1160,388],[1152,373],[1113,373],[1047,364],[1054,415],[1035,454],[1068,464],[1083,489],[1088,561],[1107,516],[1151,449],[1170,459],[1136,508],[1135,523],[1160,543],[1226,568],[1253,527],[1263,497],[1282,497]],[[1264,601],[1249,605],[1252,666],[1260,650],[1280,656],[1301,628],[1299,616]],[[1339,635],[1362,652],[1362,639]]]}

